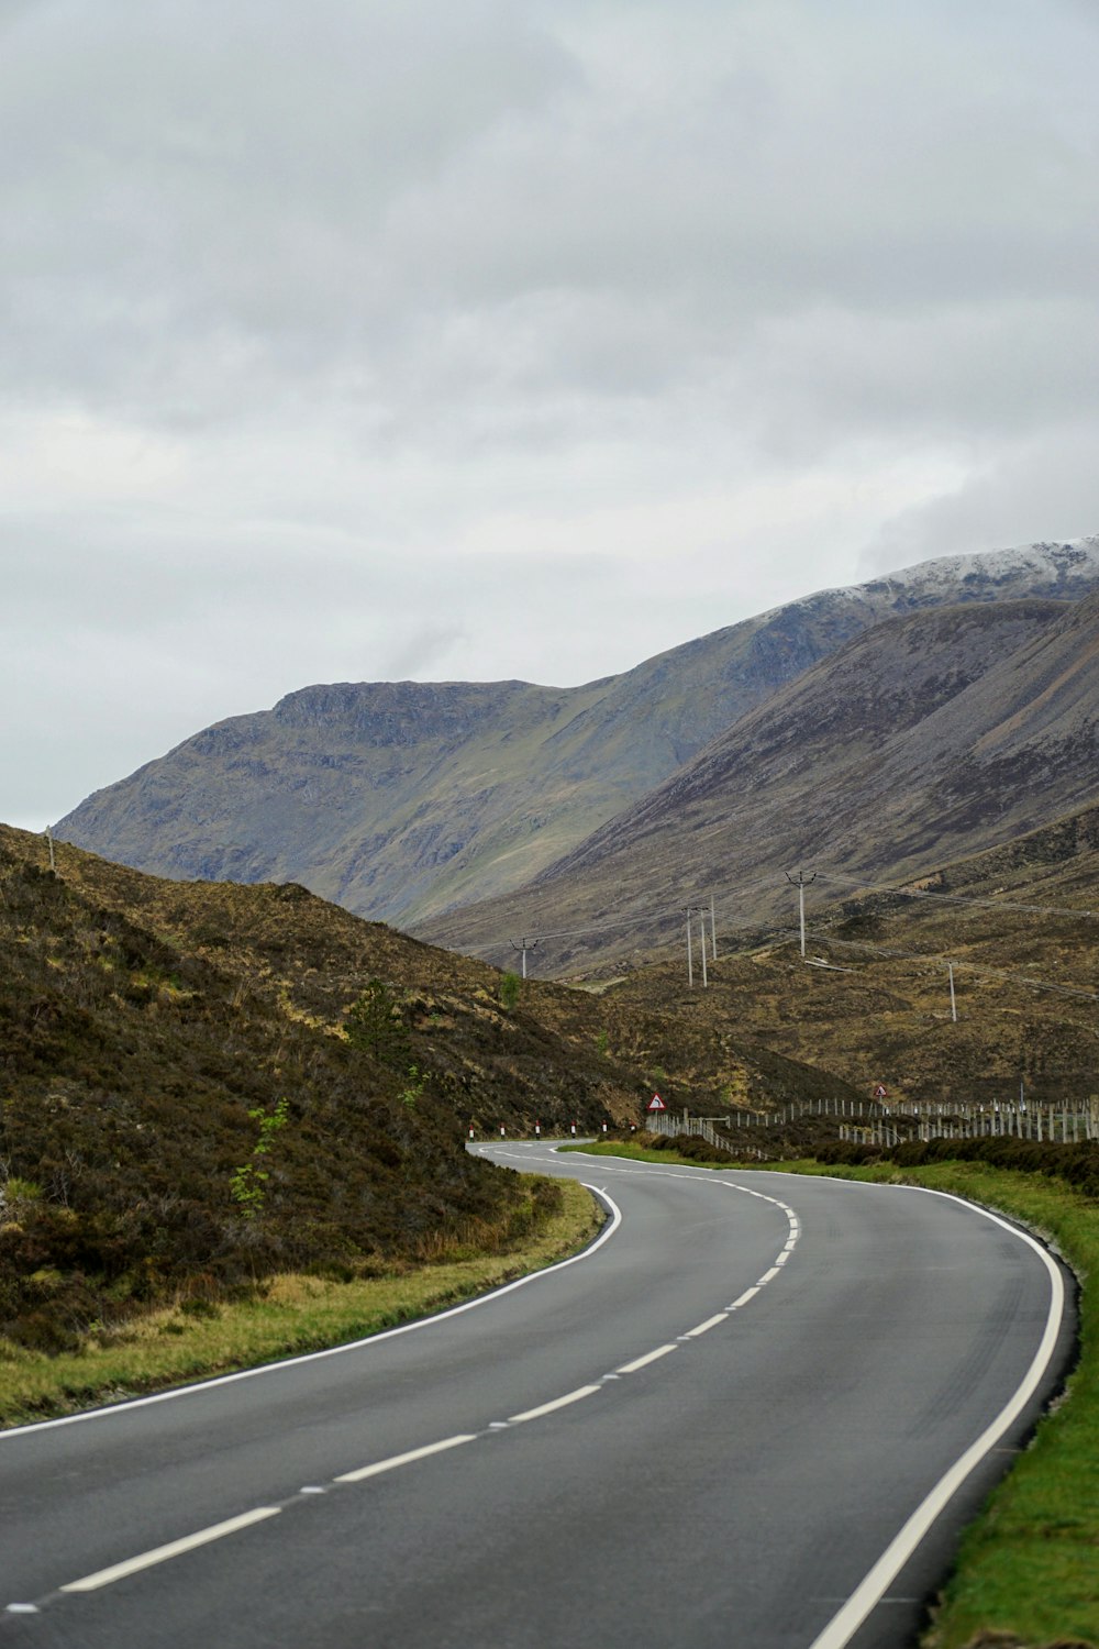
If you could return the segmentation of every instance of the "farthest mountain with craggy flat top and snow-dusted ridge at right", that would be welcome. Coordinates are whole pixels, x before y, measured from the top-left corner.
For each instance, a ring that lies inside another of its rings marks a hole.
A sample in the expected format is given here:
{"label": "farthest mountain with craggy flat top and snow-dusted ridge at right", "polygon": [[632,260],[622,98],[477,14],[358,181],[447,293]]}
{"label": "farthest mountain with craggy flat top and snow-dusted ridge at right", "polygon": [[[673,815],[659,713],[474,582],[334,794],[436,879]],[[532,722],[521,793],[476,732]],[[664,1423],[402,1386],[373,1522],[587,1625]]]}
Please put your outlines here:
{"label": "farthest mountain with craggy flat top and snow-dusted ridge at right", "polygon": [[1099,538],[1035,544],[824,590],[583,688],[303,688],[97,792],[56,834],[158,876],[303,882],[410,925],[527,882],[886,618],[1096,587]]}

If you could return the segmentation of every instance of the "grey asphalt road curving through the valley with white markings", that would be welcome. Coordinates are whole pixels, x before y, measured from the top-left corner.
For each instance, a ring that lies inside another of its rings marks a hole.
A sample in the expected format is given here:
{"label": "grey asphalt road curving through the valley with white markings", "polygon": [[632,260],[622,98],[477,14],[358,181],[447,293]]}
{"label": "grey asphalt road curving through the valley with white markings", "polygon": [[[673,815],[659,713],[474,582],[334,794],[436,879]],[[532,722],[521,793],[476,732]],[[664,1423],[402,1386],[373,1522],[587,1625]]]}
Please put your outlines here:
{"label": "grey asphalt road curving through the valley with white markings", "polygon": [[1038,1245],[914,1189],[486,1154],[600,1187],[600,1243],[0,1435],[0,1649],[914,1641],[1071,1351]]}

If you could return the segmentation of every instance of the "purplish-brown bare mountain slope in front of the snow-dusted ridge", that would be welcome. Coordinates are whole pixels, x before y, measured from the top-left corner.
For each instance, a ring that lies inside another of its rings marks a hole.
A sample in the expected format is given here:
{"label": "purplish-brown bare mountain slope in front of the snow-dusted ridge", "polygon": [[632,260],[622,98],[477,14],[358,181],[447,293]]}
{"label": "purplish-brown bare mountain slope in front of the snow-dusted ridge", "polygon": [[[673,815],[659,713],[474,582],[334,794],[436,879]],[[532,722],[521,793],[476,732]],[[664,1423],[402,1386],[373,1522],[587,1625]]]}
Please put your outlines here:
{"label": "purplish-brown bare mountain slope in front of the snow-dusted ridge", "polygon": [[1096,800],[1099,594],[916,612],[816,665],[526,889],[425,932],[494,955],[514,932],[636,920],[540,956],[611,960],[710,887],[743,927],[789,910],[786,869],[911,876]]}

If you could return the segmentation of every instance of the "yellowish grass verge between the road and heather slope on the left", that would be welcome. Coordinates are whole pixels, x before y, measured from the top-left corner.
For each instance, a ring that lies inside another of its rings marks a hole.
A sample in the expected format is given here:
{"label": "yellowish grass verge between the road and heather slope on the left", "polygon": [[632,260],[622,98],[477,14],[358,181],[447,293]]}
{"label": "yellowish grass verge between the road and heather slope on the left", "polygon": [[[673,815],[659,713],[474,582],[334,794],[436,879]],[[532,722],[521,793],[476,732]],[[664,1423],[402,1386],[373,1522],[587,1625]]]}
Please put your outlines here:
{"label": "yellowish grass verge between the road and heather slope on the left", "polygon": [[582,1248],[601,1210],[573,1181],[539,1229],[491,1253],[451,1248],[430,1265],[333,1281],[277,1276],[239,1303],[155,1311],[76,1354],[48,1357],[0,1341],[0,1425],[72,1413],[188,1380],[320,1351],[428,1316],[542,1270]]}

